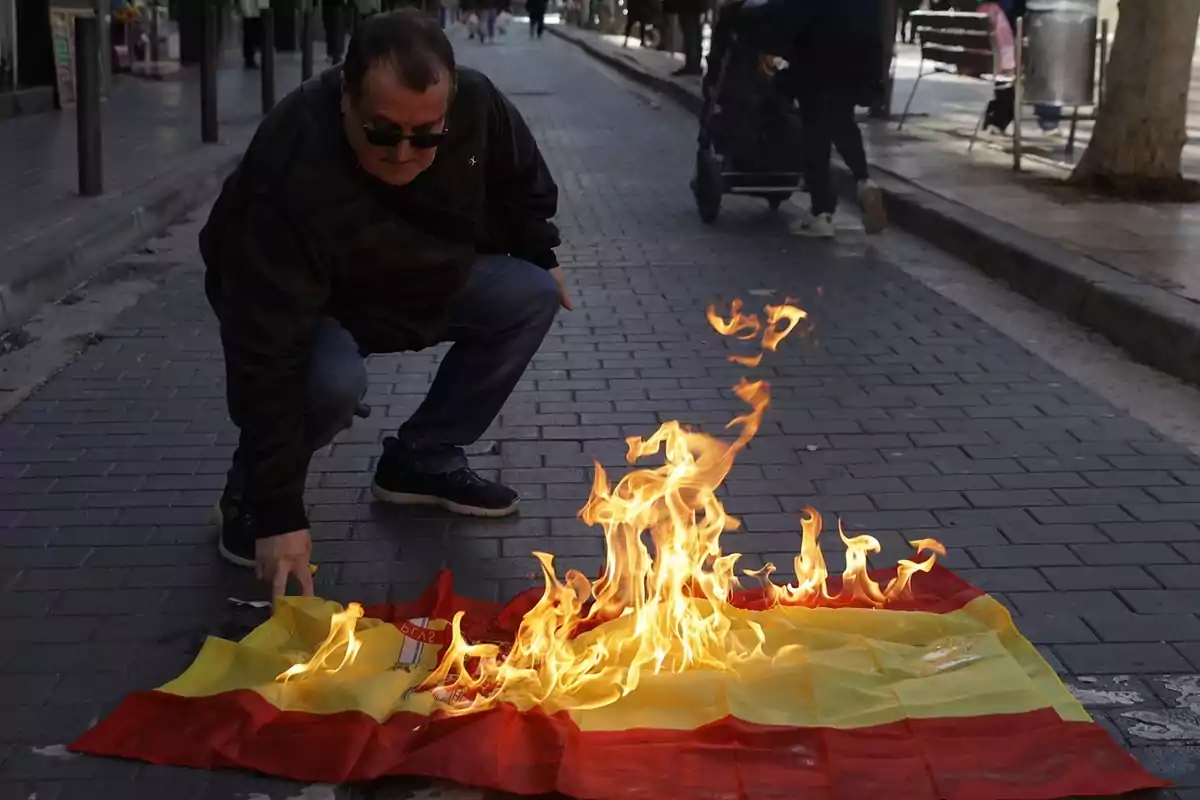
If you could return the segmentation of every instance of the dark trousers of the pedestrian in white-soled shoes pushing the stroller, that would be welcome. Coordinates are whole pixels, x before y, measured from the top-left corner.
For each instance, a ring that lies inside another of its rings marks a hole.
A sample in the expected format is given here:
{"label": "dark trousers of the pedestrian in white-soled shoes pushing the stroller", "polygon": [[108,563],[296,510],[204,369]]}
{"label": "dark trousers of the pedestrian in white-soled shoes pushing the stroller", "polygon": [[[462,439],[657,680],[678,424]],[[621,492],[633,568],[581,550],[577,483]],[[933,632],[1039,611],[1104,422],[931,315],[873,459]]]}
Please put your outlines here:
{"label": "dark trousers of the pedestrian in white-soled shoes pushing the stroller", "polygon": [[829,178],[829,160],[838,148],[854,180],[868,179],[863,132],[854,120],[857,95],[853,88],[836,82],[814,80],[797,100],[804,126],[804,182],[812,201],[812,215],[838,210],[838,194]]}

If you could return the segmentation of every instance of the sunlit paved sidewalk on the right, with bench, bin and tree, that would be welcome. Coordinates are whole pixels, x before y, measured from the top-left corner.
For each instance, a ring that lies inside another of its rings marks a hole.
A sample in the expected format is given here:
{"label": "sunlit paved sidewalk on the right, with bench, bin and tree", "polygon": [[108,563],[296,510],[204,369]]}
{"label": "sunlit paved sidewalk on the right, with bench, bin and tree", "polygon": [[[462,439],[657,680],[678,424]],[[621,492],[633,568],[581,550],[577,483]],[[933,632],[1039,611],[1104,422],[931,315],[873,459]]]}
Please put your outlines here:
{"label": "sunlit paved sidewalk on the right, with bench, bin and tree", "polygon": [[[673,56],[622,48],[618,36],[564,25],[552,31],[698,109],[700,82],[672,77]],[[902,54],[896,113],[916,67],[911,54]],[[979,82],[929,77],[913,104],[918,116],[902,132],[894,122],[865,126],[871,166],[894,221],[1146,363],[1200,380],[1200,266],[1192,257],[1200,245],[1200,207],[1090,197],[1064,185],[1068,173],[1051,160],[1027,158],[1025,172],[1014,174],[1010,156],[988,143],[968,154],[959,134],[964,126],[970,133],[988,92]],[[1052,140],[1060,151],[1064,143]],[[1033,144],[1054,151],[1046,137],[1034,137]],[[1200,173],[1200,148],[1188,154],[1189,169]]]}

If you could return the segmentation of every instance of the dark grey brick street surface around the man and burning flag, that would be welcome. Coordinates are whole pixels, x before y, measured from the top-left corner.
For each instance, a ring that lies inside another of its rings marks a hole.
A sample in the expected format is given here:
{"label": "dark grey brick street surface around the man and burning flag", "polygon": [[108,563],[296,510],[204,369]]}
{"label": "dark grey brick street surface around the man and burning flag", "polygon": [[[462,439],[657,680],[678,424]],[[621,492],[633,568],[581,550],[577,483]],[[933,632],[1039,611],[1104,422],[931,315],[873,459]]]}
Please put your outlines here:
{"label": "dark grey brick street surface around the man and burning flag", "polygon": [[[575,518],[590,459],[622,467],[620,438],[661,420],[719,431],[743,371],[706,305],[791,295],[817,330],[757,371],[775,402],[727,483],[745,527],[730,547],[790,564],[805,503],[876,534],[883,561],[936,536],[1051,663],[1085,675],[1070,680],[1114,735],[1195,800],[1200,458],[894,269],[886,245],[798,241],[750,200],[703,227],[686,188],[692,119],[571,46],[517,29],[460,49],[526,112],[563,191],[576,311],[475,458],[527,500],[508,521],[370,505],[378,441],[437,353],[373,359],[374,415],[313,459],[318,590],[408,599],[449,566],[467,594],[503,597],[529,585],[534,547],[594,571],[600,540]],[[125,693],[178,674],[205,634],[259,619],[227,601],[262,593],[217,560],[206,524],[234,432],[198,224],[162,242],[173,279],[0,422],[0,798],[410,796],[419,783],[305,789],[56,756]]]}

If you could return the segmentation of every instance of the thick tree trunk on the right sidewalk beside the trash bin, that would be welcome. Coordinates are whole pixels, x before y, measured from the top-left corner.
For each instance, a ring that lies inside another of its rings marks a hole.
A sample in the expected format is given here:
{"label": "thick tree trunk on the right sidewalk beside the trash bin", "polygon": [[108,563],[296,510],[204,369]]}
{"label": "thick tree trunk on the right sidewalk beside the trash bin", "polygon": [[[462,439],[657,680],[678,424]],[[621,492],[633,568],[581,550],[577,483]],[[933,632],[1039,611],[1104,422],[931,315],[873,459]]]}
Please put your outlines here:
{"label": "thick tree trunk on the right sidewalk beside the trash bin", "polygon": [[1200,0],[1121,0],[1104,106],[1073,180],[1120,190],[1177,182]]}

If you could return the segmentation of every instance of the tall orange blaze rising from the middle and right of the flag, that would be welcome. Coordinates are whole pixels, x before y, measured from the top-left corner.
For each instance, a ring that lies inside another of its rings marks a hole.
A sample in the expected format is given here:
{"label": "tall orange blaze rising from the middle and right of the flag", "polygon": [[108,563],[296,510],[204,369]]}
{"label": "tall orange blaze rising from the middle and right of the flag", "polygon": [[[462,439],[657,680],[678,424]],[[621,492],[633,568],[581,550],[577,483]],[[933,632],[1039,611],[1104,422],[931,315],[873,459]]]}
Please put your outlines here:
{"label": "tall orange blaze rising from the middle and right of the flag", "polygon": [[[761,336],[757,356],[731,360],[756,366],[806,317],[788,303],[767,306],[766,312],[763,325],[756,315],[742,313],[740,301],[733,302],[728,320],[708,309],[718,332],[745,341]],[[446,712],[468,714],[500,702],[548,712],[598,708],[632,692],[646,672],[736,670],[746,660],[767,657],[762,630],[752,620],[752,636],[732,632],[731,600],[739,588],[734,565],[740,555],[724,554],[719,540],[738,522],[725,512],[716,488],[758,431],[770,397],[761,380],[743,379],[733,391],[750,410],[730,422],[737,429],[732,443],[672,421],[649,439],[628,439],[630,464],[661,452],[661,467],[632,470],[611,486],[595,465],[592,497],[580,516],[604,529],[607,558],[599,579],[575,570],[559,579],[553,557],[534,553],[545,590],[510,648],[467,642],[462,614],[455,616],[451,643],[422,684],[438,690],[440,698],[455,698],[444,706]],[[800,524],[797,583],[772,583],[770,564],[748,572],[764,582],[769,603],[883,607],[908,591],[913,573],[928,572],[936,554],[944,554],[934,540],[912,542],[918,554],[928,552],[929,558],[900,561],[896,577],[881,588],[866,572],[868,557],[880,552],[880,542],[868,535],[850,539],[839,525],[846,570],[834,594],[818,547],[821,516],[809,509]]]}

